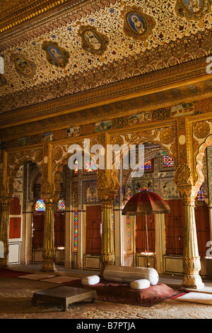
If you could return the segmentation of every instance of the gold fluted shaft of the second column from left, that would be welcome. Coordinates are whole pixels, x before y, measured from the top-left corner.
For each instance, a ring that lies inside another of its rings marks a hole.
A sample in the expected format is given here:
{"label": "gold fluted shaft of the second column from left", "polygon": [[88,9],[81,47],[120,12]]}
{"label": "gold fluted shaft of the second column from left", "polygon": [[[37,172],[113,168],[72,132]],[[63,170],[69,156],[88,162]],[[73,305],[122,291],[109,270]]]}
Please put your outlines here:
{"label": "gold fluted shaft of the second column from left", "polygon": [[45,235],[43,243],[43,264],[41,271],[57,271],[54,264],[55,249],[54,249],[54,199],[45,198]]}

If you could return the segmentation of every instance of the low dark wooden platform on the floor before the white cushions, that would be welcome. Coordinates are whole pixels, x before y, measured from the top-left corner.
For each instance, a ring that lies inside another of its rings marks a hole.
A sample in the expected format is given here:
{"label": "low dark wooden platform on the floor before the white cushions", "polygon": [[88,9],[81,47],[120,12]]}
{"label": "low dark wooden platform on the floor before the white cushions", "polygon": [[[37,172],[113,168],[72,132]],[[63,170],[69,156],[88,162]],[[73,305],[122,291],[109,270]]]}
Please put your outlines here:
{"label": "low dark wooden platform on the floor before the white cushions", "polygon": [[95,290],[59,286],[33,293],[32,305],[35,305],[37,301],[42,300],[47,303],[62,305],[64,307],[64,311],[68,311],[70,304],[89,299],[91,299],[92,302],[95,302],[97,299]]}

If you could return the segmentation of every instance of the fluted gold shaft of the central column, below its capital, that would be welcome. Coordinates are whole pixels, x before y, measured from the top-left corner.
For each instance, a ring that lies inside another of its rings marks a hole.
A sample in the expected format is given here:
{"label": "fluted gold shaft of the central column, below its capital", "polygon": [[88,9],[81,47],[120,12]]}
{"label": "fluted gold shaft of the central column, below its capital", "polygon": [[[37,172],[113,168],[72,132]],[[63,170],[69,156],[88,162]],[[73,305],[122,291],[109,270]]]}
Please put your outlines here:
{"label": "fluted gold shaft of the central column, below its capital", "polygon": [[102,275],[106,266],[114,265],[114,237],[112,232],[112,201],[102,202],[102,250],[101,271]]}

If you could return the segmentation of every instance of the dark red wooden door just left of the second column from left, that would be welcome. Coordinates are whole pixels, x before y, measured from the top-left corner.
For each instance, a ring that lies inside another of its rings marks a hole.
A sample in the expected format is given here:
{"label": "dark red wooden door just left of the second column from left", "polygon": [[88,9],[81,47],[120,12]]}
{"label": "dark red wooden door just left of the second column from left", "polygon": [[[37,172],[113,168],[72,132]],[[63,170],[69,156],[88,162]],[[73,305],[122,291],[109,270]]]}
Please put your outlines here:
{"label": "dark red wooden door just left of the second column from left", "polygon": [[33,249],[42,249],[45,231],[45,214],[33,215]]}

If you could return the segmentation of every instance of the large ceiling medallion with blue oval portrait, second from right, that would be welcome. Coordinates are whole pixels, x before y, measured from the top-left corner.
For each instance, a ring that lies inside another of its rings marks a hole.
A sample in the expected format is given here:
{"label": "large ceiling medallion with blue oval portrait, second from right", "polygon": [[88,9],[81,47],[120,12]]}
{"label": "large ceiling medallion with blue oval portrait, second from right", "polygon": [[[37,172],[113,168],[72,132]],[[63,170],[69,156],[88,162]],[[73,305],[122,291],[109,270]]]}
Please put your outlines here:
{"label": "large ceiling medallion with blue oval portrait, second from right", "polygon": [[126,7],[122,11],[123,17],[125,35],[136,40],[146,40],[155,28],[154,18],[143,13],[138,7]]}

